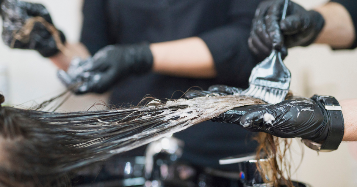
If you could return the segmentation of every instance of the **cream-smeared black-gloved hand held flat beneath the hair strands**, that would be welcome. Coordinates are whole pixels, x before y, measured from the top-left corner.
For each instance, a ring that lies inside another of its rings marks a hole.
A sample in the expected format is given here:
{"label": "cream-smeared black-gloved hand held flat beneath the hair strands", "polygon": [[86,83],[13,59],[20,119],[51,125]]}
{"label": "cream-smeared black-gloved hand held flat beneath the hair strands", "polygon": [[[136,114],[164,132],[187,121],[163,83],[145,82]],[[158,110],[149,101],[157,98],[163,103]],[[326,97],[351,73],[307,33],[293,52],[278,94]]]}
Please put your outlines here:
{"label": "cream-smeared black-gloved hand held flat beneath the hair strands", "polygon": [[[208,91],[190,90],[187,99],[205,95],[239,94],[241,89],[226,85],[213,85]],[[210,121],[233,123],[253,132],[265,132],[282,138],[302,137],[320,142],[328,133],[328,114],[314,95],[312,98],[295,97],[271,105],[249,105],[220,114]]]}

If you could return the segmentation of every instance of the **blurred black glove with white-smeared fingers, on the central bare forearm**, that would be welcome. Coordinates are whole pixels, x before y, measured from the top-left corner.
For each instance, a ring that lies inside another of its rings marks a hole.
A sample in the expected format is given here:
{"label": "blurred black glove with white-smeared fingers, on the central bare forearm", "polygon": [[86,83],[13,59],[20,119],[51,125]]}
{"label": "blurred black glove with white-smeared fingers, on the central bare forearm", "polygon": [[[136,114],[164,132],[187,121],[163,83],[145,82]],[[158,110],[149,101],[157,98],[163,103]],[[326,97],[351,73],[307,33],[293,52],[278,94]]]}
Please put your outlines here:
{"label": "blurred black glove with white-smeared fingers, on the central bare forearm", "polygon": [[86,61],[75,59],[67,72],[58,72],[58,77],[76,94],[104,93],[121,79],[151,71],[152,63],[148,43],[110,45]]}

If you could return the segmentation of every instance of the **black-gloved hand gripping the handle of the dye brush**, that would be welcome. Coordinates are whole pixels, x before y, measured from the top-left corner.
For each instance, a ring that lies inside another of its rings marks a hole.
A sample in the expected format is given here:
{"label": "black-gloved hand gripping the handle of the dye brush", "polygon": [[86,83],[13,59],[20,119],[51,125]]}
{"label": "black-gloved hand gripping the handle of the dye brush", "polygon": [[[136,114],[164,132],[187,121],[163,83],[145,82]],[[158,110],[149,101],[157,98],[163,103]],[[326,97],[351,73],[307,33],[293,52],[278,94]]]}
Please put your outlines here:
{"label": "black-gloved hand gripping the handle of the dye brush", "polygon": [[267,0],[258,5],[248,46],[260,59],[269,56],[272,49],[281,50],[285,57],[286,48],[310,45],[325,25],[320,13],[307,11],[292,1],[289,1],[286,18],[281,20],[284,2]]}

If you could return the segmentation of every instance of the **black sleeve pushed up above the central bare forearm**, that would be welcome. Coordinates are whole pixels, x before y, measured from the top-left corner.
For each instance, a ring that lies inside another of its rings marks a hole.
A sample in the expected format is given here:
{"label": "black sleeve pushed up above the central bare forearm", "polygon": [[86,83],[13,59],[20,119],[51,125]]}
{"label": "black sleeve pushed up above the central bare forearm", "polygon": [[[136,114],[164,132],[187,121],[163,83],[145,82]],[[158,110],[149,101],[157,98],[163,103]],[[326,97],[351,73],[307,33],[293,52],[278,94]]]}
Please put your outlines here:
{"label": "black sleeve pushed up above the central bare forearm", "polygon": [[231,23],[198,35],[205,41],[213,56],[219,82],[231,85],[240,82],[245,83],[239,85],[240,87],[248,87],[251,70],[258,63],[248,48],[248,37],[259,2],[233,0]]}

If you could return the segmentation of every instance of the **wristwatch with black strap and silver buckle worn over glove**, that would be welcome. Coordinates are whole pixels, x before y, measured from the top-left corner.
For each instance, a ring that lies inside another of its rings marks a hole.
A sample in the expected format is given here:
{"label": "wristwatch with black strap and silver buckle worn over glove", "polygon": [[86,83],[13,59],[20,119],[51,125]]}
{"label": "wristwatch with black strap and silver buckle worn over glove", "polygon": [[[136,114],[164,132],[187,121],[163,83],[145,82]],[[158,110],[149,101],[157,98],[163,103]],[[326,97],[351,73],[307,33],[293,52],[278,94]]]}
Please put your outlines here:
{"label": "wristwatch with black strap and silver buckle worn over glove", "polygon": [[338,149],[342,142],[343,133],[345,131],[345,123],[343,122],[342,107],[338,101],[327,95],[314,95],[311,99],[323,109],[326,110],[328,134],[326,140],[321,144],[311,140],[302,139],[301,141],[309,148],[315,151],[330,152]]}

